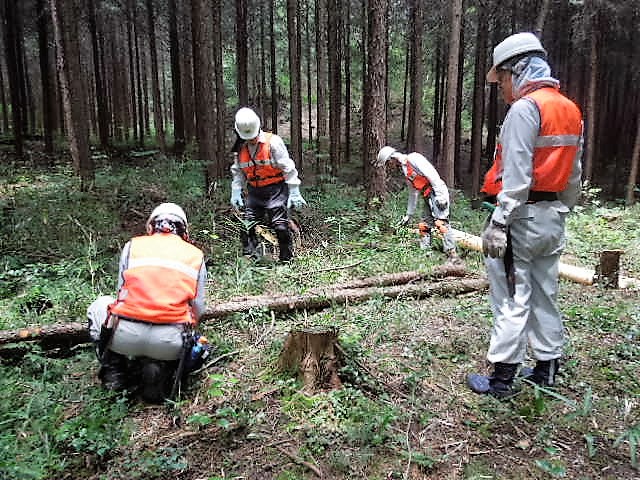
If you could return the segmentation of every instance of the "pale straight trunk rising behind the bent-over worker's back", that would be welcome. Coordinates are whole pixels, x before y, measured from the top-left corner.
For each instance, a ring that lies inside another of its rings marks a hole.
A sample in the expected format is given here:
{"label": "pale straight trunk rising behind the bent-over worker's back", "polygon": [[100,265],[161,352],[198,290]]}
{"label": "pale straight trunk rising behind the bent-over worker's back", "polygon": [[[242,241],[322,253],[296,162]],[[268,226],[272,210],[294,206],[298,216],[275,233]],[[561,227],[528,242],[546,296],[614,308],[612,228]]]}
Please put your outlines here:
{"label": "pale straight trunk rising behind the bent-over worker's back", "polygon": [[455,186],[456,118],[458,99],[458,69],[460,68],[460,31],[462,26],[462,0],[451,2],[451,32],[449,35],[449,61],[447,68],[447,107],[442,179],[449,188]]}

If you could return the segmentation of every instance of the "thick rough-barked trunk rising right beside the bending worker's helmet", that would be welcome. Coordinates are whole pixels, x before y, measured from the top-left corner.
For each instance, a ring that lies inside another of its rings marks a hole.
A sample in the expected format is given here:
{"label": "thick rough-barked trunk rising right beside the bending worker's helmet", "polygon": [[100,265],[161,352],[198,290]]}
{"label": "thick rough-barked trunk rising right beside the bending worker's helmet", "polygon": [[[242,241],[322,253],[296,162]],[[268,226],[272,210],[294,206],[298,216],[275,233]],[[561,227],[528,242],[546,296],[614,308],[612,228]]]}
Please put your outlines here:
{"label": "thick rough-barked trunk rising right beside the bending worker's helmet", "polygon": [[[387,195],[386,169],[375,165],[378,150],[385,138],[385,77],[387,57],[385,49],[385,14],[388,0],[371,0],[367,28],[367,82],[364,85],[364,111],[362,123],[362,161],[373,162],[367,178],[367,197],[383,199]],[[375,204],[370,203],[377,208]]]}

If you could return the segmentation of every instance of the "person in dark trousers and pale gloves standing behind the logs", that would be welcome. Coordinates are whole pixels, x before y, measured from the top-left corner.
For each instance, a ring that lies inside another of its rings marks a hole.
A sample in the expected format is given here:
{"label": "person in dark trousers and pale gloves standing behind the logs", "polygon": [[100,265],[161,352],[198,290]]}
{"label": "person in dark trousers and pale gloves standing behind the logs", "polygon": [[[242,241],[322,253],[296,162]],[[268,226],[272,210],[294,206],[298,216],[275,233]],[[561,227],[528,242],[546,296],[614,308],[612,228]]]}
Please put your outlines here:
{"label": "person in dark trousers and pale gloves standing behind the logs", "polygon": [[298,170],[282,138],[263,132],[260,118],[250,108],[238,110],[235,130],[242,143],[231,165],[231,205],[239,210],[244,207],[244,220],[251,225],[241,234],[242,254],[256,256],[255,222],[265,219],[276,232],[280,261],[287,262],[293,258],[288,209],[307,204],[300,194]]}

